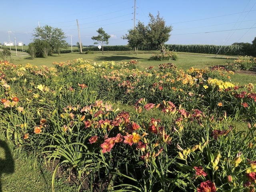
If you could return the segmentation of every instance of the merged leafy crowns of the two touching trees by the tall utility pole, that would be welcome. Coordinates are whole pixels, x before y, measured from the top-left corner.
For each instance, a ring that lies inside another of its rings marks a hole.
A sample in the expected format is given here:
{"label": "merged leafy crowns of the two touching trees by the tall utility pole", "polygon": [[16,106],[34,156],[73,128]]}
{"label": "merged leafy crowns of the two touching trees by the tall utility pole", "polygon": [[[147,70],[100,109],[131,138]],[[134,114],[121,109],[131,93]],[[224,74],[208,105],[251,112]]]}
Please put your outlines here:
{"label": "merged leafy crowns of the two touching trees by the tall utility pole", "polygon": [[150,46],[152,49],[166,51],[164,43],[169,40],[172,26],[166,26],[165,21],[158,12],[154,17],[149,14],[150,22],[144,26],[142,22],[138,22],[134,29],[128,30],[129,34],[123,36],[123,39],[128,40],[128,45],[136,48],[140,45]]}

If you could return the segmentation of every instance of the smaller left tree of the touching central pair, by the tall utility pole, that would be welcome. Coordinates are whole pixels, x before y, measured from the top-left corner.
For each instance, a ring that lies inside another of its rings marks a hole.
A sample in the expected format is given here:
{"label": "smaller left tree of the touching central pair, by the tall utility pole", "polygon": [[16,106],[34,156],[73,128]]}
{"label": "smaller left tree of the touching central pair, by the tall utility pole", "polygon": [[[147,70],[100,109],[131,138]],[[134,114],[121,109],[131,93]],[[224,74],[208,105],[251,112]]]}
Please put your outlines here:
{"label": "smaller left tree of the touching central pair, by the tall utility pole", "polygon": [[134,29],[128,30],[128,32],[129,34],[125,34],[122,38],[127,39],[128,46],[134,48],[136,54],[138,54],[138,46],[145,44],[146,27],[139,21],[137,26]]}

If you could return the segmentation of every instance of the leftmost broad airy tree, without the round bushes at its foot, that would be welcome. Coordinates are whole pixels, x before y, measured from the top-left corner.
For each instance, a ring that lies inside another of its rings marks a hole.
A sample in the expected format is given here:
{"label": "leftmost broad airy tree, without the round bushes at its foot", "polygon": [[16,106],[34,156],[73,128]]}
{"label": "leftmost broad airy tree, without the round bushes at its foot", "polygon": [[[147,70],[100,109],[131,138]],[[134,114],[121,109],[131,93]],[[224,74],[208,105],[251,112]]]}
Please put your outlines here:
{"label": "leftmost broad airy tree, without the round bushes at its foot", "polygon": [[60,56],[60,48],[66,48],[68,46],[65,40],[66,36],[60,28],[45,25],[43,27],[38,26],[34,31],[35,33],[32,34],[34,36],[34,42],[36,40],[46,41],[50,45],[51,51],[55,50],[58,52],[58,56]]}

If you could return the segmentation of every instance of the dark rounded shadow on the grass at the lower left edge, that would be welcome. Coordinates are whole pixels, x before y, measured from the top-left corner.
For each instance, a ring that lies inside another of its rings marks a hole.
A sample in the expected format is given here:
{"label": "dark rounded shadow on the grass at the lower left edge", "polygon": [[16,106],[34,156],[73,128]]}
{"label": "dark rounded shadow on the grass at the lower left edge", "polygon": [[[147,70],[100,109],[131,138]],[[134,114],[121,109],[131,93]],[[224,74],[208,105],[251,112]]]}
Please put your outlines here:
{"label": "dark rounded shadow on the grass at the lower left edge", "polygon": [[1,176],[3,173],[14,173],[14,160],[12,153],[6,141],[0,140],[0,154],[4,158],[0,157],[0,192],[2,192]]}

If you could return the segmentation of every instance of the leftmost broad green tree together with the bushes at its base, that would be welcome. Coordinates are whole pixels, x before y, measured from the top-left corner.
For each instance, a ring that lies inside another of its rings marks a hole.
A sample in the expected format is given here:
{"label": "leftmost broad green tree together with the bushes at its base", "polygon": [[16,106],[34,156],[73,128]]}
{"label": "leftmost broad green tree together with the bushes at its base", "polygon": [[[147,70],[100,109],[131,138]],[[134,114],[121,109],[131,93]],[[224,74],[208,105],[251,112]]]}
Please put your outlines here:
{"label": "leftmost broad green tree together with the bushes at its base", "polygon": [[47,57],[54,50],[58,52],[58,55],[60,56],[60,49],[68,46],[68,43],[65,40],[66,36],[60,28],[53,28],[48,25],[43,27],[38,26],[35,28],[32,36],[34,37],[36,57]]}

